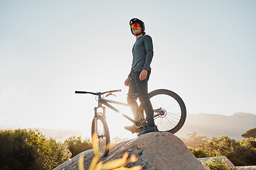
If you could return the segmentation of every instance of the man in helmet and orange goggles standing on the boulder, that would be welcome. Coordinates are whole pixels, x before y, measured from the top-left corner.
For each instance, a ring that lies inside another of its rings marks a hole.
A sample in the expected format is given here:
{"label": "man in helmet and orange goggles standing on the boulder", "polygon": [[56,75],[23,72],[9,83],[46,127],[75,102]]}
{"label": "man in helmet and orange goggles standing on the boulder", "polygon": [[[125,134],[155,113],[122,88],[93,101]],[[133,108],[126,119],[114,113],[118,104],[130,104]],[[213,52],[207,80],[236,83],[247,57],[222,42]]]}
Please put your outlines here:
{"label": "man in helmet and orange goggles standing on the boulder", "polygon": [[[138,18],[132,18],[132,20],[129,21],[129,26],[136,41],[132,47],[132,69],[128,78],[124,81],[124,85],[129,86],[127,103],[132,106],[138,106],[137,101],[131,95],[138,94],[141,107],[144,108],[146,113],[146,127],[142,129],[132,125],[124,128],[132,133],[139,133],[139,136],[148,132],[159,131],[154,124],[154,111],[148,94],[148,81],[151,73],[150,64],[154,52],[152,39],[145,33],[144,22]],[[134,114],[134,119],[138,122],[144,118],[143,111],[137,108],[132,108],[132,113]]]}

